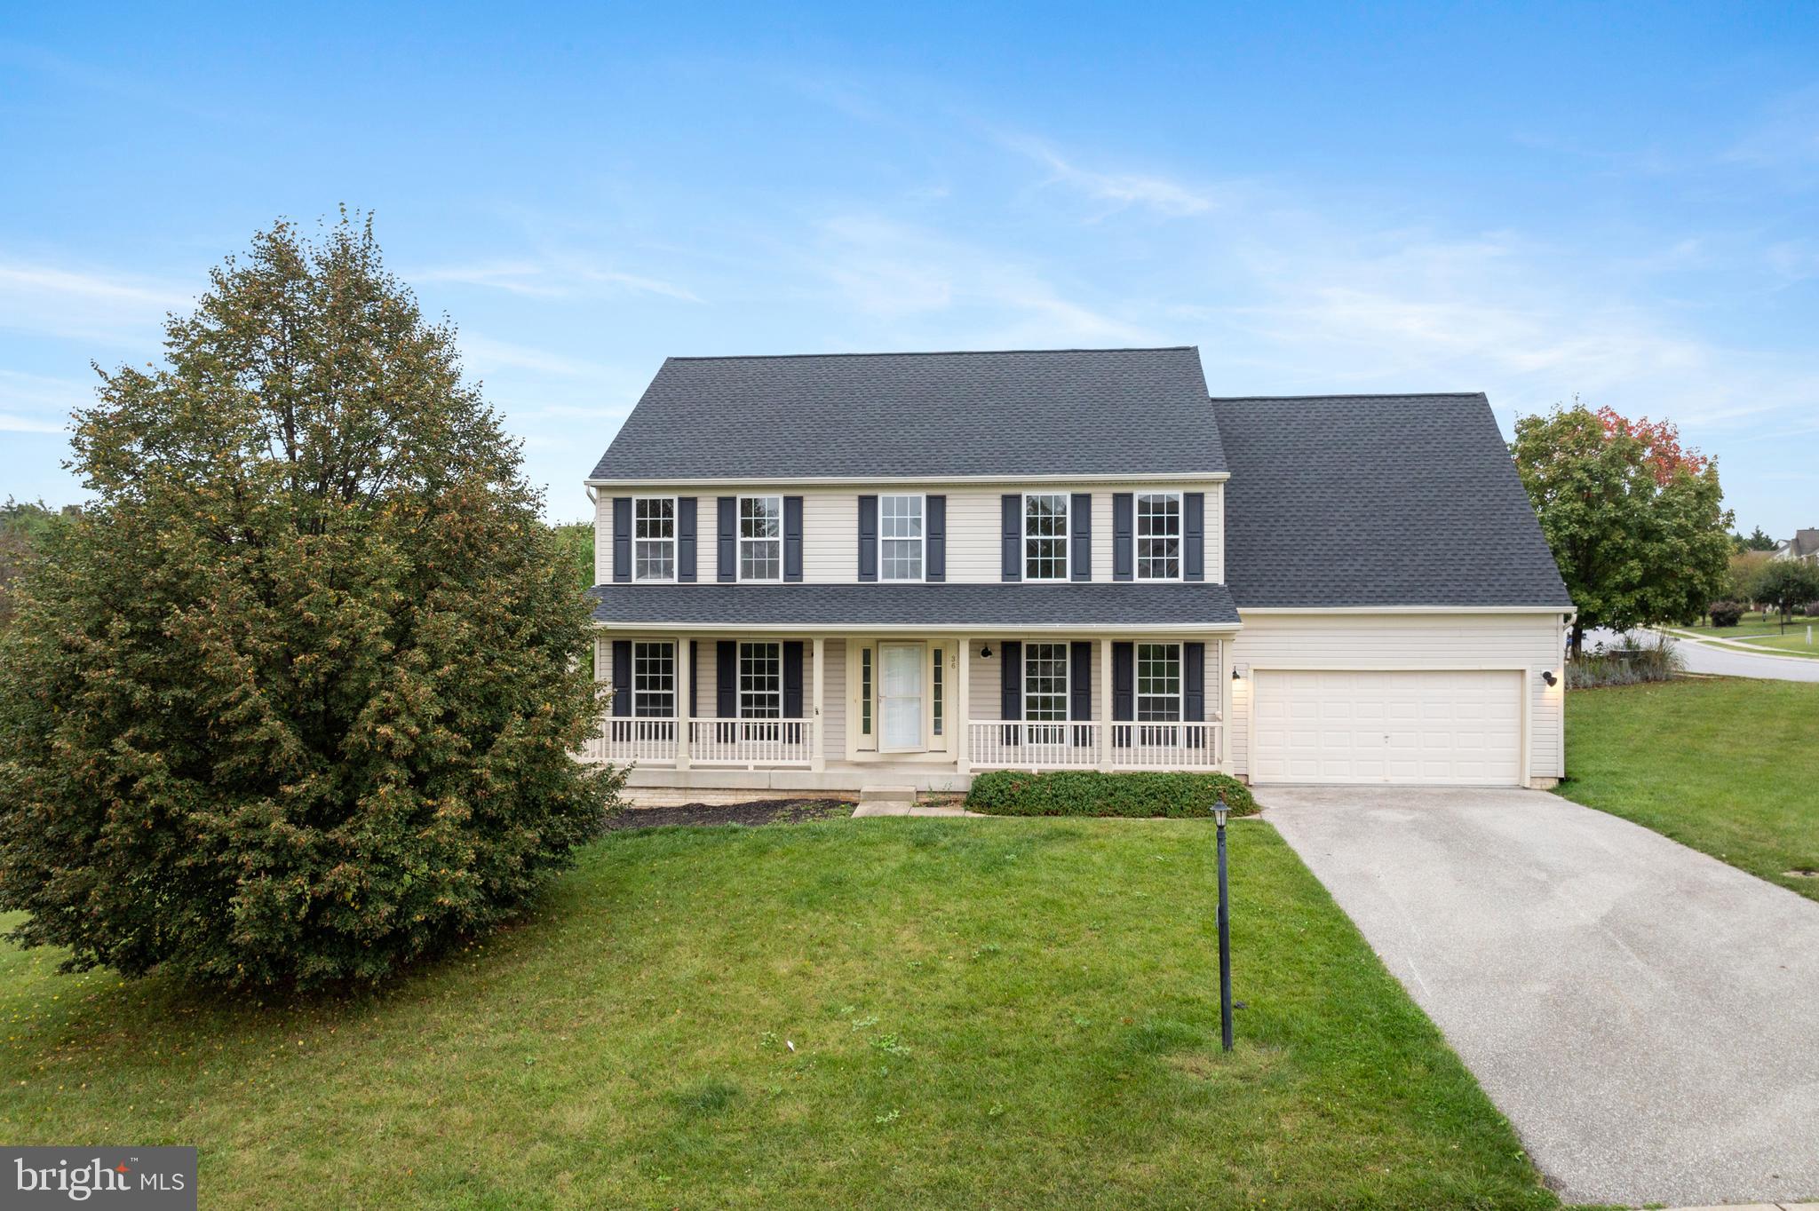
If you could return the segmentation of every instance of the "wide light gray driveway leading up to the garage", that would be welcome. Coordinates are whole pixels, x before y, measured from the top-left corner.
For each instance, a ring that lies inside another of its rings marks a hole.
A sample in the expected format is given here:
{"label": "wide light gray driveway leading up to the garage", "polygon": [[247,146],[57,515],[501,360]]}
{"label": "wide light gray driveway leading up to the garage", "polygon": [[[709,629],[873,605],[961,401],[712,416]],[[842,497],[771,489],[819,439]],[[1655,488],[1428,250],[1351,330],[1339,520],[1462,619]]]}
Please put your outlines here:
{"label": "wide light gray driveway leading up to the garage", "polygon": [[1819,904],[1541,791],[1257,798],[1564,1200],[1819,1196]]}

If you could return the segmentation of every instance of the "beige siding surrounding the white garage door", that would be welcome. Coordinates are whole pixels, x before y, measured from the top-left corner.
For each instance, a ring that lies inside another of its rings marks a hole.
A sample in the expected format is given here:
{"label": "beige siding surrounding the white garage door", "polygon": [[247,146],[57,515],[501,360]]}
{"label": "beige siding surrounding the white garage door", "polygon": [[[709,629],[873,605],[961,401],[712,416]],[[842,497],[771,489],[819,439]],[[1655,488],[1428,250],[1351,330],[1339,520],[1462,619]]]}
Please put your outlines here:
{"label": "beige siding surrounding the white garage door", "polygon": [[[1517,669],[1528,707],[1530,778],[1564,776],[1561,615],[1244,615],[1231,664],[1231,756],[1250,775],[1250,696],[1266,669]],[[1228,675],[1230,676],[1230,675]],[[1210,682],[1211,686],[1213,682]]]}

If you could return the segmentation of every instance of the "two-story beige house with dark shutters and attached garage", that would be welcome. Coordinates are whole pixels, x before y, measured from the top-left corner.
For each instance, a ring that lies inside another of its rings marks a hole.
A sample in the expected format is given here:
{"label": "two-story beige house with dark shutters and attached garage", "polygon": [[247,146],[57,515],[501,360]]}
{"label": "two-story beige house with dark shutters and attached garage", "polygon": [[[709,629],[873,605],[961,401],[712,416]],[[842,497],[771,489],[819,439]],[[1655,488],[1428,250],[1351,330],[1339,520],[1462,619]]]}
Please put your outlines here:
{"label": "two-story beige house with dark shutters and attached garage", "polygon": [[1482,395],[1210,398],[1199,351],[669,358],[588,478],[595,760],[1550,784],[1572,602]]}

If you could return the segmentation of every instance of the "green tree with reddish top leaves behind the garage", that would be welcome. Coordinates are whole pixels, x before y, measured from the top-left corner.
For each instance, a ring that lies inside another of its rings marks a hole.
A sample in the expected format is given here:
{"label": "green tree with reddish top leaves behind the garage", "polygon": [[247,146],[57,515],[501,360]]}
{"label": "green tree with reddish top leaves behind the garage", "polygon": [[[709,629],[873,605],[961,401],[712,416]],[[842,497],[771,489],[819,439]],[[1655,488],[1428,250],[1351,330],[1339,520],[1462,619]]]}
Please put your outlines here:
{"label": "green tree with reddish top leaves behind the garage", "polygon": [[1590,627],[1697,622],[1723,591],[1732,515],[1717,464],[1681,445],[1666,420],[1555,407],[1515,422],[1517,471]]}

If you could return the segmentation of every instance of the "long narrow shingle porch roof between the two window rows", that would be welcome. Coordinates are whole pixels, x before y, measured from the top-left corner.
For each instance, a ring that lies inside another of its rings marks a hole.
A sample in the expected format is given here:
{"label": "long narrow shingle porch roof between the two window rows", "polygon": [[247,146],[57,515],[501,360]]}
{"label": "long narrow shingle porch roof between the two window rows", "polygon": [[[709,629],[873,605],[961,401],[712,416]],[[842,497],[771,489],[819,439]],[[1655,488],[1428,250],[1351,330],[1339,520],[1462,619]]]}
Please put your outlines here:
{"label": "long narrow shingle porch roof between the two window rows", "polygon": [[608,626],[1228,627],[1222,584],[597,584]]}

